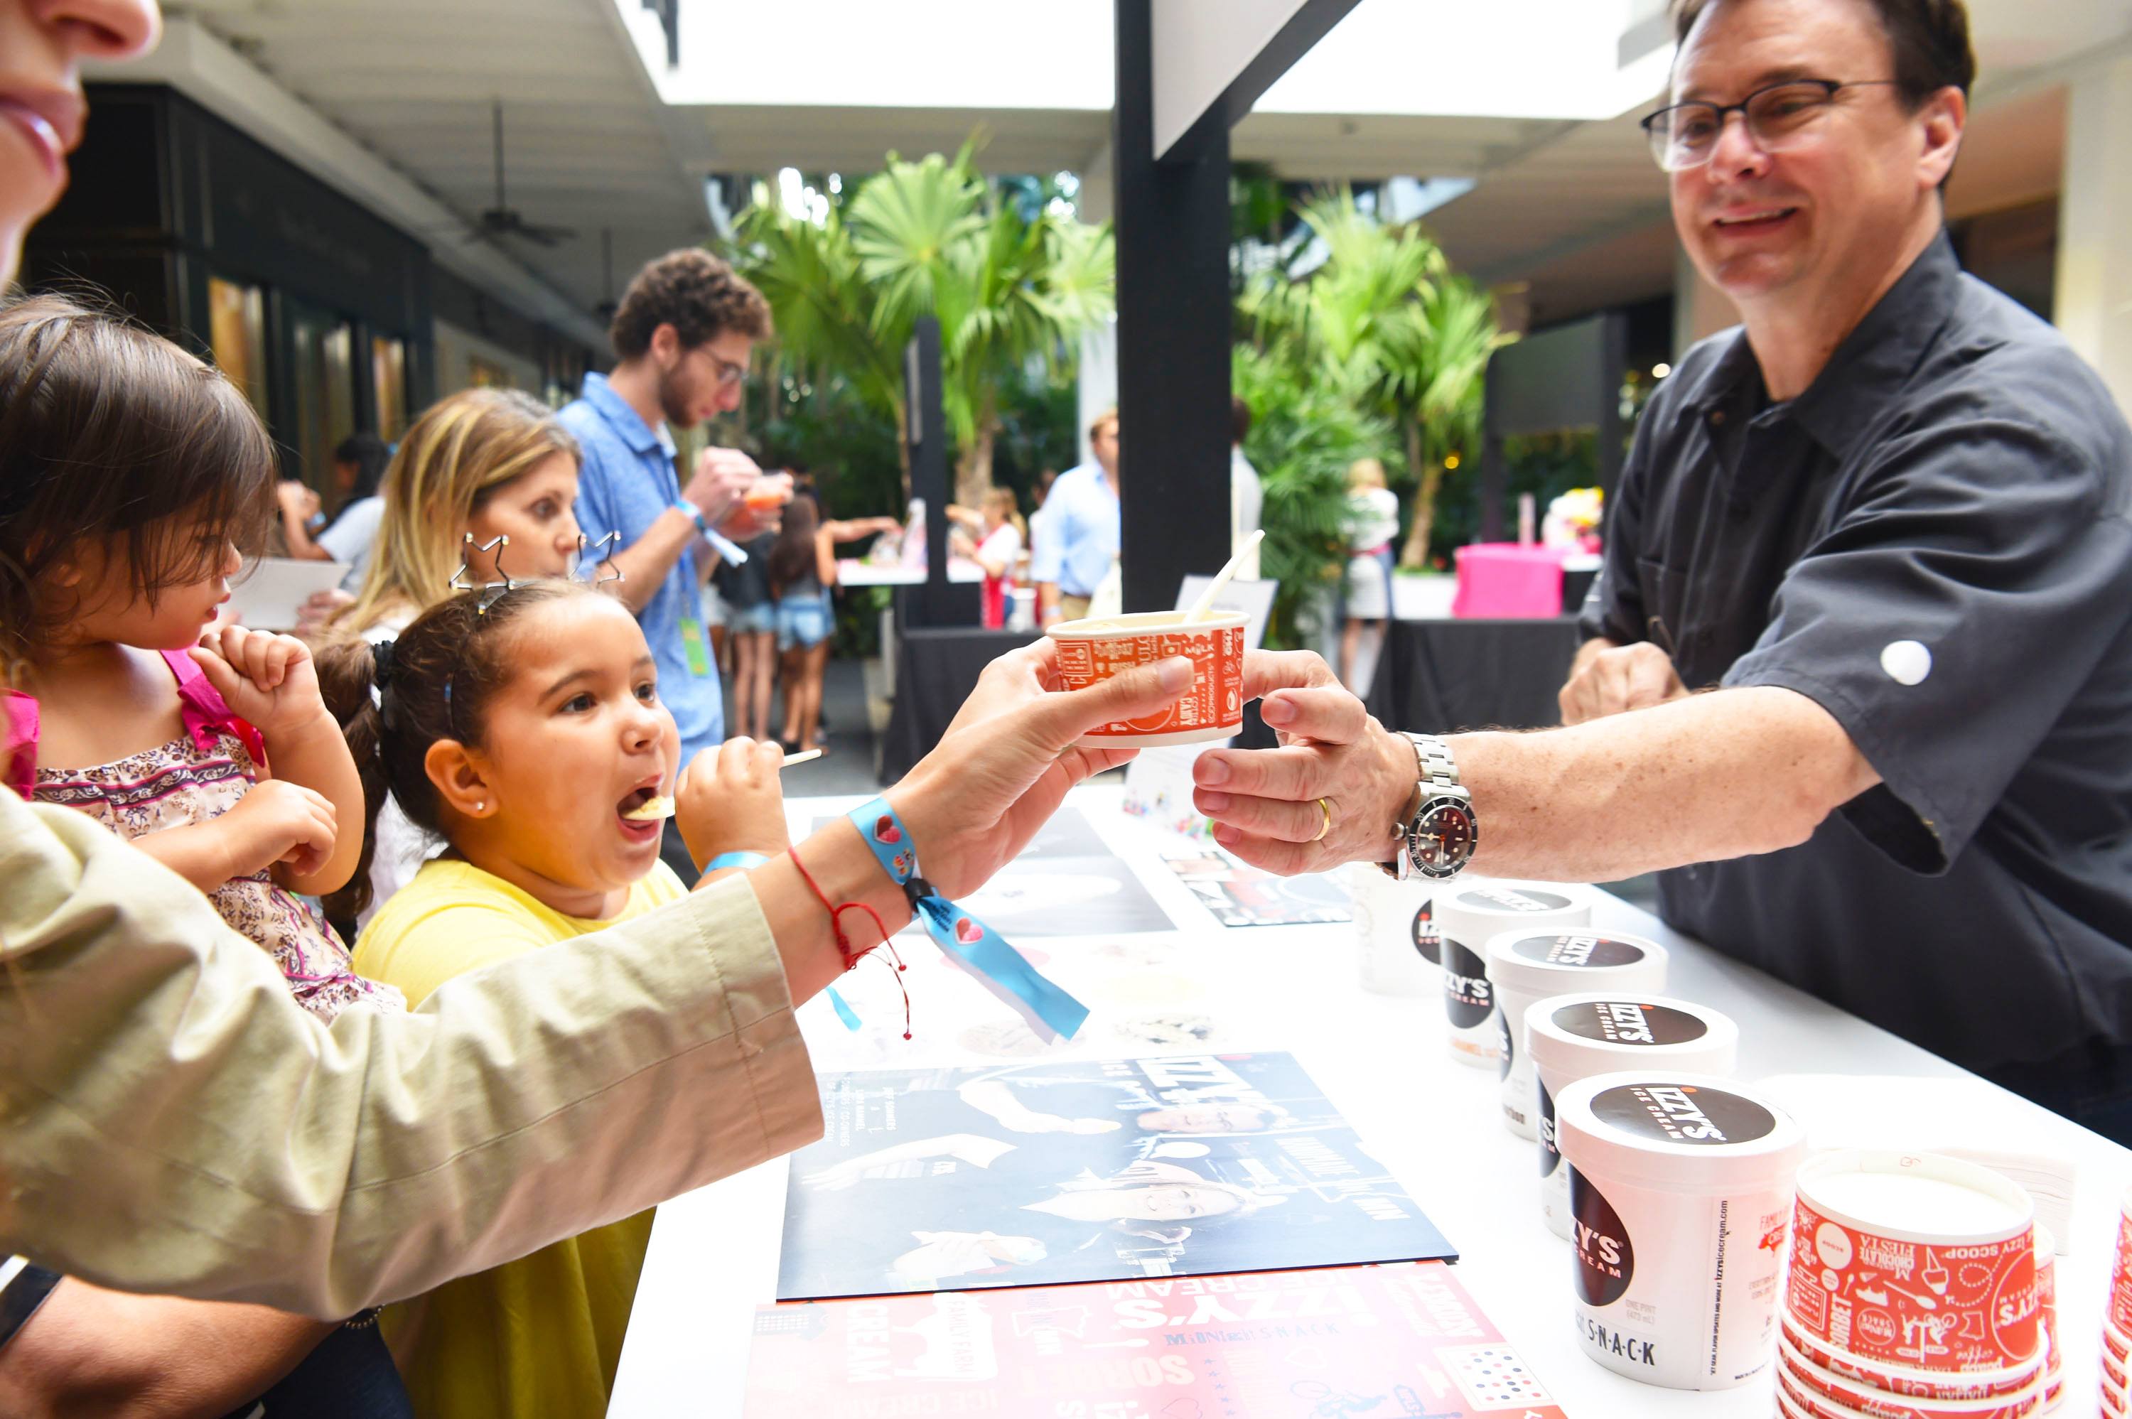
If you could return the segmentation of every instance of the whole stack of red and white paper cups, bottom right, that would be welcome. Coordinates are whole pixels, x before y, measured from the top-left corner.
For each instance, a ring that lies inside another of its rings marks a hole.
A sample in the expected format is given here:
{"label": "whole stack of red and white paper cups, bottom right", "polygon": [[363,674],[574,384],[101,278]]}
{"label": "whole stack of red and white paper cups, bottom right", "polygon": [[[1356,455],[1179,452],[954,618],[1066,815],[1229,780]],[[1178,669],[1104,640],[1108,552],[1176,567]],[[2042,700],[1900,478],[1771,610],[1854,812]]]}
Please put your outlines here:
{"label": "whole stack of red and white paper cups, bottom right", "polygon": [[1778,1391],[1808,1419],[2028,1419],[2049,1387],[2036,1204],[1976,1163],[1842,1151],[1799,1170]]}

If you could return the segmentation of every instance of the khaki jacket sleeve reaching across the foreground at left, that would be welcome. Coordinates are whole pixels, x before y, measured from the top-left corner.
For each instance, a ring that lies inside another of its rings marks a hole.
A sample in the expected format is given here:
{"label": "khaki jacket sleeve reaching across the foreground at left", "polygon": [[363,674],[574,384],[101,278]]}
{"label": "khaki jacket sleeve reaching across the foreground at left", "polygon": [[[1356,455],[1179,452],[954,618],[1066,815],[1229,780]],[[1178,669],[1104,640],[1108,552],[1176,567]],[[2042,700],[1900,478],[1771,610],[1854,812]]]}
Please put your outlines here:
{"label": "khaki jacket sleeve reaching across the foreground at left", "polygon": [[819,1136],[744,878],[328,1029],[181,878],[0,788],[0,1255],[337,1319]]}

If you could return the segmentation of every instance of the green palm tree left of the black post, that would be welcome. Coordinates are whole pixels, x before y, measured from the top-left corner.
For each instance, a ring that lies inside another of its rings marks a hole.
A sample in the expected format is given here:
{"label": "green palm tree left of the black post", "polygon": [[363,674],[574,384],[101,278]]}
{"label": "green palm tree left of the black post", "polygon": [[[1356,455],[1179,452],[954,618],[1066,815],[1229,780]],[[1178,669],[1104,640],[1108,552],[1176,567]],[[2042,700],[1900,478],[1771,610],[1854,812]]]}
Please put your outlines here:
{"label": "green palm tree left of the black post", "polygon": [[972,151],[889,153],[821,219],[757,185],[736,264],[770,300],[782,358],[842,375],[898,424],[904,345],[921,315],[938,317],[955,499],[974,507],[991,486],[1004,381],[1030,366],[1060,377],[1081,332],[1111,315],[1117,279],[1107,226],[1025,215],[970,166]]}

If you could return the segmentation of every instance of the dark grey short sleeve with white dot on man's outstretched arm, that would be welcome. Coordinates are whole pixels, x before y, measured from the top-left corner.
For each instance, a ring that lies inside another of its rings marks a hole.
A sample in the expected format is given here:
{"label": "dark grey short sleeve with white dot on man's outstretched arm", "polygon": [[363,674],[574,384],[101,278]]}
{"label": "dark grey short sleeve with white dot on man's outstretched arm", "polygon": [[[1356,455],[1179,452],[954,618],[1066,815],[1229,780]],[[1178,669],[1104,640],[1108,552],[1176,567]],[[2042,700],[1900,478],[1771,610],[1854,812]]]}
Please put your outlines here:
{"label": "dark grey short sleeve with white dot on man's outstretched arm", "polygon": [[2132,526],[2094,458],[2010,420],[1925,420],[1778,588],[1725,675],[1827,710],[1883,780],[1844,808],[1944,871],[2132,614]]}

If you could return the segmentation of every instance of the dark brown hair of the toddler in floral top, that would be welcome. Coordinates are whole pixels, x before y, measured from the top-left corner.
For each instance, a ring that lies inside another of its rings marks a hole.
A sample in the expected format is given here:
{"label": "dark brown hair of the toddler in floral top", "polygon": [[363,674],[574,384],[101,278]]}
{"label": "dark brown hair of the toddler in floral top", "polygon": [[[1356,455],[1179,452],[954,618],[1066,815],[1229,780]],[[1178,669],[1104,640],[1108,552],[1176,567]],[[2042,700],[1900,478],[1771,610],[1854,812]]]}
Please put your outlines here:
{"label": "dark brown hair of the toddler in floral top", "polygon": [[0,309],[0,680],[64,626],[38,594],[83,539],[124,556],[136,597],[256,552],[273,441],[245,396],[160,335],[70,296]]}

